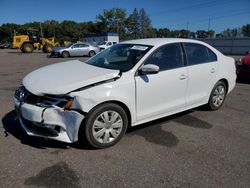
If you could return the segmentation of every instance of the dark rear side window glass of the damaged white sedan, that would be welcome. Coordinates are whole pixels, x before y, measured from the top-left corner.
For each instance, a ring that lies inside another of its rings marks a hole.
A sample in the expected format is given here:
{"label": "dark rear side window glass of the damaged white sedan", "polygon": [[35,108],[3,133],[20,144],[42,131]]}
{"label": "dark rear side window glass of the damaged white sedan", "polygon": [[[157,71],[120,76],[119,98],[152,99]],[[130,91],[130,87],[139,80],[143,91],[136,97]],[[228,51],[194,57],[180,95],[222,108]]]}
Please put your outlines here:
{"label": "dark rear side window glass of the damaged white sedan", "polygon": [[195,43],[185,43],[188,65],[197,65],[217,60],[217,56],[206,46]]}

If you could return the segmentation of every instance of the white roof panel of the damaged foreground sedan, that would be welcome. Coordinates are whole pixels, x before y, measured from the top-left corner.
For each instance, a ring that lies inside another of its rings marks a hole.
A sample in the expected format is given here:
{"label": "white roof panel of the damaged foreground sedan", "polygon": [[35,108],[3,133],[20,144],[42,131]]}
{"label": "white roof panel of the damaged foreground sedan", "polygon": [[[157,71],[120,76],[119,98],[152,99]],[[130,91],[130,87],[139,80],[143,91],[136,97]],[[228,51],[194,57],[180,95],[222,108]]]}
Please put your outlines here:
{"label": "white roof panel of the damaged foreground sedan", "polygon": [[193,42],[193,43],[205,44],[204,42],[198,40],[184,39],[184,38],[147,38],[147,39],[124,41],[122,43],[161,46],[164,44],[174,43],[174,42]]}

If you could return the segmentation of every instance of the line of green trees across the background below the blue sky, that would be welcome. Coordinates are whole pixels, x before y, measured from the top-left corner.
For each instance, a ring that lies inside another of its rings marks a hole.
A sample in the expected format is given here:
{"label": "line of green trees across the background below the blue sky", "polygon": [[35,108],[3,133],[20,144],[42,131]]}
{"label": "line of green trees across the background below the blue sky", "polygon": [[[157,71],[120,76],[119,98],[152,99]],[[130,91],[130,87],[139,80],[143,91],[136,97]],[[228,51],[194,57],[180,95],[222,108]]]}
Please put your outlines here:
{"label": "line of green trees across the background below the blue sky", "polygon": [[[146,11],[134,9],[127,14],[125,9],[104,9],[96,16],[96,21],[75,22],[65,20],[58,22],[48,20],[45,22],[30,22],[25,24],[6,23],[0,26],[0,42],[11,42],[13,35],[26,34],[30,28],[42,29],[44,37],[56,37],[58,41],[83,40],[87,34],[104,32],[118,32],[120,40],[151,38],[151,37],[183,37],[183,38],[207,38],[214,37],[215,31],[198,30],[192,32],[186,29],[170,30],[168,28],[154,28]],[[216,35],[217,37],[250,37],[250,24],[240,28],[226,29]]]}

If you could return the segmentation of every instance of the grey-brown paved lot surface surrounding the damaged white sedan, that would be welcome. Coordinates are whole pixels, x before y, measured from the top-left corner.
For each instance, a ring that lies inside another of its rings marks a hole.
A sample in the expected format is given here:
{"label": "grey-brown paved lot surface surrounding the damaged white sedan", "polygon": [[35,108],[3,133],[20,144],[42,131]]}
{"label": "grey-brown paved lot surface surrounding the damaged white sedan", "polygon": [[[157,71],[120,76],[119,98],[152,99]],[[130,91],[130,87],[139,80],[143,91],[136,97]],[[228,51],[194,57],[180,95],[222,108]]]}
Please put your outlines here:
{"label": "grey-brown paved lot surface surrounding the damaged white sedan", "polygon": [[250,187],[249,83],[237,83],[218,111],[146,123],[93,150],[28,137],[15,120],[24,75],[66,60],[0,50],[0,187]]}

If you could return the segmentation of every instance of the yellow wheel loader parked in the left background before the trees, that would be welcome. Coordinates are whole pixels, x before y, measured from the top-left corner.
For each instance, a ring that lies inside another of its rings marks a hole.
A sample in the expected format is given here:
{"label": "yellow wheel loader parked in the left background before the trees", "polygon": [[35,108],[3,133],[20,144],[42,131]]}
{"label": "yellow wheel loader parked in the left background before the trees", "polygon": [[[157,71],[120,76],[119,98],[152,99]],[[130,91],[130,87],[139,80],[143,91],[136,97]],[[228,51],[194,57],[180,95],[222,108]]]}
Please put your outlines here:
{"label": "yellow wheel loader parked in the left background before the trees", "polygon": [[55,38],[40,37],[39,30],[29,29],[27,35],[16,35],[13,37],[13,48],[21,49],[24,53],[32,53],[34,49],[43,50],[45,53],[50,53],[59,43],[55,42]]}

